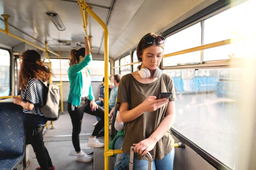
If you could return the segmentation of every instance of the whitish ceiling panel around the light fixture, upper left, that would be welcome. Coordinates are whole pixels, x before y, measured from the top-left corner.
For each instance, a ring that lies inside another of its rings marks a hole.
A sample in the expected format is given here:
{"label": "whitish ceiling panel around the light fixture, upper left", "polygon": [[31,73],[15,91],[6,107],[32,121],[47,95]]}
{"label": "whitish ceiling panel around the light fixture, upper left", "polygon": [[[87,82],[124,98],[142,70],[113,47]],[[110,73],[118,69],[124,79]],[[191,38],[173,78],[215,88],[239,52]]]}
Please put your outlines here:
{"label": "whitish ceiling panel around the light fixture, upper left", "polygon": [[[110,6],[111,0],[106,0],[104,3],[100,3],[100,5]],[[37,3],[34,0],[1,0],[1,8],[4,14],[11,15],[9,23],[41,42],[47,40],[49,45],[54,45],[57,42],[56,40],[84,42],[85,32],[80,8],[77,3],[61,0],[40,0]],[[46,14],[47,11],[58,13],[66,30],[59,31],[49,20]],[[93,6],[93,11],[106,22],[109,9]],[[3,22],[1,22],[2,25],[2,28],[4,28]],[[88,18],[87,30],[88,34],[93,36],[91,41],[92,47],[99,48],[103,37],[103,30],[90,16]],[[19,34],[19,31],[12,27],[10,27],[10,31],[12,34]],[[19,37],[27,38],[26,35],[22,36],[21,34],[19,34]],[[55,45],[58,45],[58,43]],[[59,48],[61,49],[62,47]]]}

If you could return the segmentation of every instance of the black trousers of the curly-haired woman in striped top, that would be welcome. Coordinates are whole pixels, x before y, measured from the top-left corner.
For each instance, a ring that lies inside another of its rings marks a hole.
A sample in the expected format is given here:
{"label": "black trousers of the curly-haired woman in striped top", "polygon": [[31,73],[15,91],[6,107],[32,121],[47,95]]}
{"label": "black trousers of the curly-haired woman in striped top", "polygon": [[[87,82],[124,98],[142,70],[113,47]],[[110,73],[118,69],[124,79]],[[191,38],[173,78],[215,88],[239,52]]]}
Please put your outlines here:
{"label": "black trousers of the curly-haired woman in striped top", "polygon": [[38,164],[41,167],[41,170],[49,170],[49,167],[52,167],[52,160],[49,156],[48,150],[44,146],[44,127],[25,127],[25,129],[26,144],[32,145]]}

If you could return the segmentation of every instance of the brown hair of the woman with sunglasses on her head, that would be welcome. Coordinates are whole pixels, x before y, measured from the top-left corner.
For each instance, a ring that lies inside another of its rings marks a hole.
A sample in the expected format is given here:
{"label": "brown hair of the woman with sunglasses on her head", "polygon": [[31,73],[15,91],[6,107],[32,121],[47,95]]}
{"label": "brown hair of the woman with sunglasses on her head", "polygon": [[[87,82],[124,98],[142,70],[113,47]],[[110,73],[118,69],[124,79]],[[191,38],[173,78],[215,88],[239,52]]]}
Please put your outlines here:
{"label": "brown hair of the woman with sunglasses on her head", "polygon": [[163,48],[163,44],[158,44],[156,41],[154,41],[152,44],[147,44],[147,43],[143,42],[144,37],[147,37],[147,36],[151,36],[151,37],[154,37],[154,38],[155,38],[155,37],[157,37],[157,36],[159,36],[159,35],[157,35],[157,34],[155,34],[155,33],[148,33],[148,34],[145,34],[145,35],[142,37],[142,39],[140,40],[140,42],[139,42],[139,44],[138,44],[138,46],[137,46],[137,51],[136,51],[136,53],[137,53],[137,58],[138,58],[138,61],[139,61],[139,62],[142,62],[142,58],[140,58],[140,56],[143,54],[143,51],[144,51],[145,48],[148,48],[148,47],[150,47],[150,46],[152,46],[152,45],[156,45],[156,46],[159,46],[159,47]]}

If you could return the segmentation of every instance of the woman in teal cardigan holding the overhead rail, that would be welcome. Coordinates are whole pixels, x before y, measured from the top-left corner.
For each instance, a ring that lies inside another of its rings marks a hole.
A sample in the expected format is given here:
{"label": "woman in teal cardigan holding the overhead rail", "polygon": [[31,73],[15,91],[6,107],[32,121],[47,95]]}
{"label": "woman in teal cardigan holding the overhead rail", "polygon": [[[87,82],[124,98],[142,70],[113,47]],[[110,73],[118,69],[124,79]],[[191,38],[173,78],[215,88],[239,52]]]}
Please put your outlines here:
{"label": "woman in teal cardigan holding the overhead rail", "polygon": [[89,41],[86,37],[84,40],[85,48],[70,51],[70,68],[68,69],[70,91],[67,99],[67,110],[73,125],[72,142],[77,153],[76,161],[90,162],[92,157],[80,149],[79,134],[81,132],[82,119],[84,112],[100,118],[88,140],[88,147],[104,147],[104,143],[100,143],[96,139],[96,135],[104,126],[104,109],[95,103],[90,72],[86,68],[92,60],[92,55],[90,53]]}

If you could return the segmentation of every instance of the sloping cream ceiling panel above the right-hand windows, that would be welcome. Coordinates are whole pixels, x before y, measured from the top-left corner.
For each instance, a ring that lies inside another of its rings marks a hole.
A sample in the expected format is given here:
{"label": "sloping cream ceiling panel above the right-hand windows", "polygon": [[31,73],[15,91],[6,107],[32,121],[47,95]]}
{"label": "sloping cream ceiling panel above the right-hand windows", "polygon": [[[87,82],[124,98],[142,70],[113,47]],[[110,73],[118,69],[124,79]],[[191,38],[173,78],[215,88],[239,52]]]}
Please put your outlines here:
{"label": "sloping cream ceiling panel above the right-hand windows", "polygon": [[[204,1],[205,0],[145,0],[118,40],[111,46],[110,56],[113,58],[119,57],[125,51],[137,45],[141,37],[148,32],[160,30],[190,10],[194,9],[193,14],[195,14],[202,9],[200,4]],[[211,4],[217,0],[207,1]],[[102,49],[100,53],[102,54]]]}

